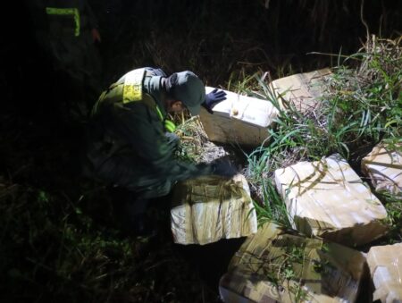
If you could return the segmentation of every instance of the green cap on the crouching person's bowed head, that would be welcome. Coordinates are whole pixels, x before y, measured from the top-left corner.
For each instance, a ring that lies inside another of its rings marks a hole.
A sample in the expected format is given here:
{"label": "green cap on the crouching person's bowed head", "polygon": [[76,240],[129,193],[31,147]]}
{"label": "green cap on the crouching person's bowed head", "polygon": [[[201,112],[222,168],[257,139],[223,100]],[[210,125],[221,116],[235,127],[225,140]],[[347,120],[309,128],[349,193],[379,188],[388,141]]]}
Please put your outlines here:
{"label": "green cap on the crouching person's bowed head", "polygon": [[172,77],[172,97],[180,100],[192,115],[199,114],[201,104],[205,101],[205,86],[194,72],[177,72]]}

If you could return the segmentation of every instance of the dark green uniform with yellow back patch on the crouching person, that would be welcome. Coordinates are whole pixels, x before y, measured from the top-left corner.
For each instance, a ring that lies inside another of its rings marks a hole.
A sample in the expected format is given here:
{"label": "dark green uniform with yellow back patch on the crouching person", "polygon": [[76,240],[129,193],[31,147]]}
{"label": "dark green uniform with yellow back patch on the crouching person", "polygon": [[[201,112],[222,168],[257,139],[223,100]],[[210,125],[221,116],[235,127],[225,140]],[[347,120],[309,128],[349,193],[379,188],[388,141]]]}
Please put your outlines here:
{"label": "dark green uniform with yellow back patch on the crouching person", "polygon": [[141,198],[164,196],[176,181],[211,173],[209,166],[174,159],[164,129],[164,76],[151,68],[127,73],[102,94],[92,113],[87,173]]}

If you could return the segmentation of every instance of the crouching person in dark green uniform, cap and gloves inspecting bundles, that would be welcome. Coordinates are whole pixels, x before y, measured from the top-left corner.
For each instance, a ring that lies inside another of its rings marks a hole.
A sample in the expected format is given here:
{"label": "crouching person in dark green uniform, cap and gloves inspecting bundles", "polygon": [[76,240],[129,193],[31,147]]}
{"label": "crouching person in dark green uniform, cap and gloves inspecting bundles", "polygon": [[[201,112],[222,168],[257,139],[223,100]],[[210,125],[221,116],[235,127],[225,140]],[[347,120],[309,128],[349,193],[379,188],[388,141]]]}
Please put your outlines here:
{"label": "crouching person in dark green uniform, cap and gloves inspecting bundles", "polygon": [[185,108],[192,115],[200,106],[210,113],[225,99],[205,86],[193,72],[167,77],[160,69],[140,68],[126,73],[99,97],[91,114],[85,156],[86,174],[113,189],[124,190],[113,208],[121,227],[131,235],[153,232],[147,217],[149,200],[166,196],[177,181],[218,174],[231,177],[229,162],[188,164],[174,157],[179,138],[172,133],[169,113]]}

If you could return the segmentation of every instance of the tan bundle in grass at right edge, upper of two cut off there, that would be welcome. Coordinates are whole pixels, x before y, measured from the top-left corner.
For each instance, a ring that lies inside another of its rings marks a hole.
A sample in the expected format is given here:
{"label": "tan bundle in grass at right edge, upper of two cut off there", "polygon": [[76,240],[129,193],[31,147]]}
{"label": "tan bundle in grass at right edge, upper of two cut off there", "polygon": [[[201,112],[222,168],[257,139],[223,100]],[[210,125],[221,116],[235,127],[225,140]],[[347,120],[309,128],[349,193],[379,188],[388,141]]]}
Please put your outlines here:
{"label": "tan bundle in grass at right edge, upper of two cut off there", "polygon": [[389,191],[402,197],[402,144],[395,149],[378,145],[362,160],[362,171],[377,191]]}

